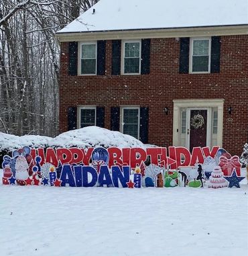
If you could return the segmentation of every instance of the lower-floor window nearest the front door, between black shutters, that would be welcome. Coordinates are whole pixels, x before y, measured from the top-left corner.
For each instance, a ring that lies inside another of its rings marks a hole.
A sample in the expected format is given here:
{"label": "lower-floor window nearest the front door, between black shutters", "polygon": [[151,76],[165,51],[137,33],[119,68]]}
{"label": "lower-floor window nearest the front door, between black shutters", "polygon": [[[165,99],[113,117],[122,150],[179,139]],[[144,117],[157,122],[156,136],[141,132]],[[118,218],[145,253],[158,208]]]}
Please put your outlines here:
{"label": "lower-floor window nearest the front door, between black shutters", "polygon": [[139,108],[122,108],[121,132],[139,138]]}

